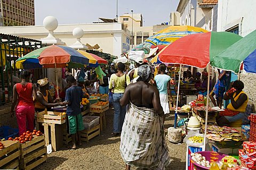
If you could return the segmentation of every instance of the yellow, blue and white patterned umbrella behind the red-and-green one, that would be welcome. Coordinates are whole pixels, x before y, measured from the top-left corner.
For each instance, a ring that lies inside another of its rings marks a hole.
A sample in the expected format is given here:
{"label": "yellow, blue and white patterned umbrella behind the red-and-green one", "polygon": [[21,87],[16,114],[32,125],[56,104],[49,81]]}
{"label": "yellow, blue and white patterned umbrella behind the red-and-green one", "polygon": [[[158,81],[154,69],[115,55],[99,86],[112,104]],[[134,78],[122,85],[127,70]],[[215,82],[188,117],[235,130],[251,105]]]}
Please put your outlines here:
{"label": "yellow, blue and white patterned umbrella behind the red-and-green one", "polygon": [[161,31],[158,31],[153,36],[148,37],[145,42],[137,45],[132,50],[134,51],[143,50],[145,54],[148,54],[150,51],[149,49],[152,46],[169,45],[183,36],[190,35],[190,34],[197,34],[197,33],[206,33],[206,32],[208,31],[199,27],[170,26]]}

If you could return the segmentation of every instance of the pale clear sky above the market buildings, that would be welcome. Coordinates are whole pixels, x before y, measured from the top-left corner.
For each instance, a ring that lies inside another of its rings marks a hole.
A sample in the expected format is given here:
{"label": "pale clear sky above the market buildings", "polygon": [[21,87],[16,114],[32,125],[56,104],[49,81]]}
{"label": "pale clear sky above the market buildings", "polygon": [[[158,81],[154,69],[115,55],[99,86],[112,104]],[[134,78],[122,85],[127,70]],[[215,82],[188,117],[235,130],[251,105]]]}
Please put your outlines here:
{"label": "pale clear sky above the market buildings", "polygon": [[[170,12],[176,11],[179,0],[117,0],[118,16],[123,13],[141,13],[144,26],[169,21]],[[116,17],[116,0],[35,0],[36,25],[43,25],[52,15],[59,24],[92,23],[98,18]]]}

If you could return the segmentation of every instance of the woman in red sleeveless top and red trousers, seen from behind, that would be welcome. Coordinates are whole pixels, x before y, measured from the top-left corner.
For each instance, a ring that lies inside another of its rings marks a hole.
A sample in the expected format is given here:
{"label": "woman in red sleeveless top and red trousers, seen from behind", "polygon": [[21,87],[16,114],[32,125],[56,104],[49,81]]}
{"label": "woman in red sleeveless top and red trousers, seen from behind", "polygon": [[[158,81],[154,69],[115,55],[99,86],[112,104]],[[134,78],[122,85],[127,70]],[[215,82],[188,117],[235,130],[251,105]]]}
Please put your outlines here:
{"label": "woman in red sleeveless top and red trousers, seen from behind", "polygon": [[20,77],[22,78],[21,83],[17,83],[13,86],[11,116],[14,115],[13,110],[18,101],[15,112],[19,126],[19,134],[22,135],[27,130],[33,132],[35,119],[33,96],[36,99],[37,95],[34,84],[29,83],[30,71],[22,70]]}

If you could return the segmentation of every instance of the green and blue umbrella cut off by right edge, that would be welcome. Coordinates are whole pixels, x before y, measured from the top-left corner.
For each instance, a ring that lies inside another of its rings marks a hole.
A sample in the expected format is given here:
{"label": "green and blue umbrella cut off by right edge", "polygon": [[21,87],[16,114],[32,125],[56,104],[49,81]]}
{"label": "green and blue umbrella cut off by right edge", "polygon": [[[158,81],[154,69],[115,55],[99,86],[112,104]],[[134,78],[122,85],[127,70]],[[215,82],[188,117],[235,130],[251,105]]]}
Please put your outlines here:
{"label": "green and blue umbrella cut off by right edge", "polygon": [[211,66],[239,72],[241,64],[246,72],[256,73],[256,30],[214,56]]}

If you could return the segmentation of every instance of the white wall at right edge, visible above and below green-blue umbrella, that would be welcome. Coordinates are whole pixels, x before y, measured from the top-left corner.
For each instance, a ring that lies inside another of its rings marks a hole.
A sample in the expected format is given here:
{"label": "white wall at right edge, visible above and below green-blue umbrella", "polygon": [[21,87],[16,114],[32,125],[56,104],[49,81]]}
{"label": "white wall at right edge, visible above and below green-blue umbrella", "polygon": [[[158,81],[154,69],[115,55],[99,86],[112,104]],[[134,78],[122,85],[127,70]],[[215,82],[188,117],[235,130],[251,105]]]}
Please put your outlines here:
{"label": "white wall at right edge, visible above and below green-blue umbrella", "polygon": [[[217,31],[225,31],[238,25],[239,35],[246,36],[256,29],[256,1],[219,0]],[[239,55],[239,54],[237,54]],[[241,74],[244,91],[250,99],[256,101],[256,75]]]}

